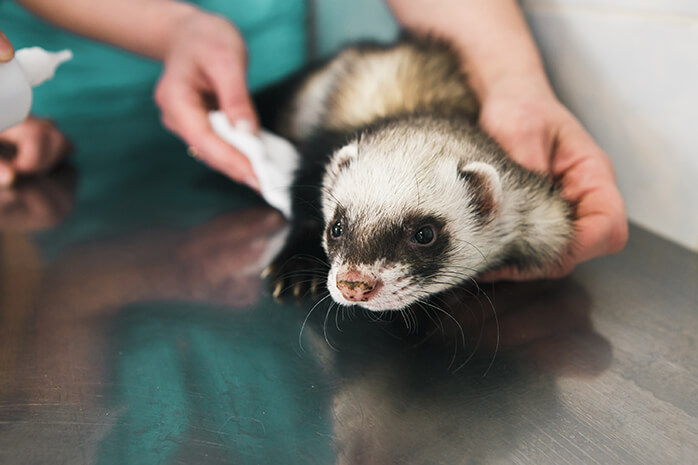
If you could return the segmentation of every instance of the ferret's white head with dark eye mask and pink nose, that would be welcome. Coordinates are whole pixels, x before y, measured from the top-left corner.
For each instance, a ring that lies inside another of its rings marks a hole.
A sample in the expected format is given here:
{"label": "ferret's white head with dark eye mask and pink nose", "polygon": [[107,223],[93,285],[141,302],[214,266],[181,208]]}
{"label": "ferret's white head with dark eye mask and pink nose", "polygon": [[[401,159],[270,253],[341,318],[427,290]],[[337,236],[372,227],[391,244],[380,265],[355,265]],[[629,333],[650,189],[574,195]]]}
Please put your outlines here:
{"label": "ferret's white head with dark eye mask and pink nose", "polygon": [[448,134],[399,125],[335,152],[323,180],[327,287],[343,305],[401,309],[487,267],[497,170]]}

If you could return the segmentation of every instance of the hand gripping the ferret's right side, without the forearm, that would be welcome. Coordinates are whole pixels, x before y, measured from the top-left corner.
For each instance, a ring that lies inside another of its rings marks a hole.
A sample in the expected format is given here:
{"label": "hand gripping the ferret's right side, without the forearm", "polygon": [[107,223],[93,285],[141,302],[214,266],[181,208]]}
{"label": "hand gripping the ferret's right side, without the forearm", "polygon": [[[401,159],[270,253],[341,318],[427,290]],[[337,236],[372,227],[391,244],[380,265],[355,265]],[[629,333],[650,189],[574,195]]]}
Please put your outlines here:
{"label": "hand gripping the ferret's right side, without the forearm", "polygon": [[611,162],[549,88],[515,83],[493,87],[482,100],[480,124],[515,161],[560,183],[577,214],[576,236],[558,265],[526,272],[505,268],[481,279],[561,277],[581,262],[625,246],[625,206]]}

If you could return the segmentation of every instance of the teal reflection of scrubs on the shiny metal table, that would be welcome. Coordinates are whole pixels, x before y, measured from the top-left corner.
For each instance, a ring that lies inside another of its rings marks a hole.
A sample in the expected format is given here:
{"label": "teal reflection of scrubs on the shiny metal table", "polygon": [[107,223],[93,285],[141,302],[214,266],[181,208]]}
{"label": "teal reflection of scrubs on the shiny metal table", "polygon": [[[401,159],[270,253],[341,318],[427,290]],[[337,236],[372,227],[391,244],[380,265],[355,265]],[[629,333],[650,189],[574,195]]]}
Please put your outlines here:
{"label": "teal reflection of scrubs on the shiny metal table", "polygon": [[[332,387],[312,355],[292,350],[297,310],[270,302],[242,314],[178,302],[122,309],[110,360],[118,383],[107,396],[121,417],[96,463],[334,463]],[[195,450],[201,442],[205,457]]]}

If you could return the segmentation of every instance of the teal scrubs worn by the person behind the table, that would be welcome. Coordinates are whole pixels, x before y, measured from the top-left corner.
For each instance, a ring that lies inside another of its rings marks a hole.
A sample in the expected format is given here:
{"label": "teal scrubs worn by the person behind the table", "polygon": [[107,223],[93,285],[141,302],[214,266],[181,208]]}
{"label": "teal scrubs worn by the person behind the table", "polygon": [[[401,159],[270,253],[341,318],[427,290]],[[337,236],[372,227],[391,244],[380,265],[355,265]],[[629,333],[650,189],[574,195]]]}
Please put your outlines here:
{"label": "teal scrubs worn by the person behind the table", "polygon": [[[249,52],[252,89],[298,69],[305,60],[304,0],[199,0],[200,7],[230,18]],[[152,92],[161,66],[152,60],[86,40],[28,13],[14,2],[0,1],[0,30],[15,48],[38,45],[71,49],[75,58],[56,79],[35,90],[33,112],[60,121],[65,116],[94,115],[138,106]]]}

